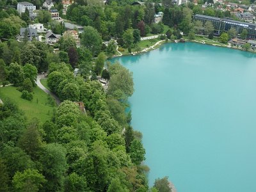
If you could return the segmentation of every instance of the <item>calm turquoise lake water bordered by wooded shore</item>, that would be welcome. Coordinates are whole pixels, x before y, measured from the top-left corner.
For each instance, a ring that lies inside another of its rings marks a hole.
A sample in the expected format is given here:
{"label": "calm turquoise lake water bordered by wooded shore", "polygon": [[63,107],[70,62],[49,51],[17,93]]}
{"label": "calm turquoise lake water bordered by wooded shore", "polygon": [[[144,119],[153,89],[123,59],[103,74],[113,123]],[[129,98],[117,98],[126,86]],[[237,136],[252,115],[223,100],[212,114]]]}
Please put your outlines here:
{"label": "calm turquoise lake water bordered by wooded shore", "polygon": [[186,43],[113,60],[133,72],[150,186],[166,175],[179,192],[256,191],[256,54]]}

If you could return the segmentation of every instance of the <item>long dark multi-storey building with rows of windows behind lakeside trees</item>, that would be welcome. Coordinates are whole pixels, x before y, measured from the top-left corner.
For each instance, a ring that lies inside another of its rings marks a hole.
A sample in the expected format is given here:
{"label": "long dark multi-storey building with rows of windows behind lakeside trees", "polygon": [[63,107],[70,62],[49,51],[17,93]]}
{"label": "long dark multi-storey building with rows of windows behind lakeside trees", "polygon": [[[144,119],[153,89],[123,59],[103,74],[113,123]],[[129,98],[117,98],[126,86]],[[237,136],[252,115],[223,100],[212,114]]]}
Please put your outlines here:
{"label": "long dark multi-storey building with rows of windows behind lakeside trees", "polygon": [[216,35],[220,35],[221,31],[228,31],[230,28],[234,28],[239,34],[242,33],[243,29],[246,29],[248,31],[247,38],[256,38],[256,24],[232,19],[220,19],[218,17],[198,14],[194,16],[193,20],[201,20],[203,23],[205,23],[207,20],[211,21],[212,25],[214,26],[214,33]]}

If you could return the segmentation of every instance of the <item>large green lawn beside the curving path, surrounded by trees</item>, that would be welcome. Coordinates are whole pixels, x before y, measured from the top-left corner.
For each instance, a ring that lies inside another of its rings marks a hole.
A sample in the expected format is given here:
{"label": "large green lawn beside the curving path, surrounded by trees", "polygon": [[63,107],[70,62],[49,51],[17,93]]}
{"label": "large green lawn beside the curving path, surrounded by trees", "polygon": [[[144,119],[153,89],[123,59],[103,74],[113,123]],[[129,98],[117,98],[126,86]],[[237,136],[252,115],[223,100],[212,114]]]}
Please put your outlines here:
{"label": "large green lawn beside the curving path, surrounded by trees", "polygon": [[33,117],[40,119],[41,122],[51,119],[54,107],[50,104],[47,93],[36,87],[33,89],[33,100],[29,101],[22,99],[20,98],[20,95],[21,92],[16,90],[16,87],[14,86],[0,88],[0,98],[3,102],[7,98],[10,98],[10,100],[15,102],[19,108],[24,111],[28,120],[31,120]]}

